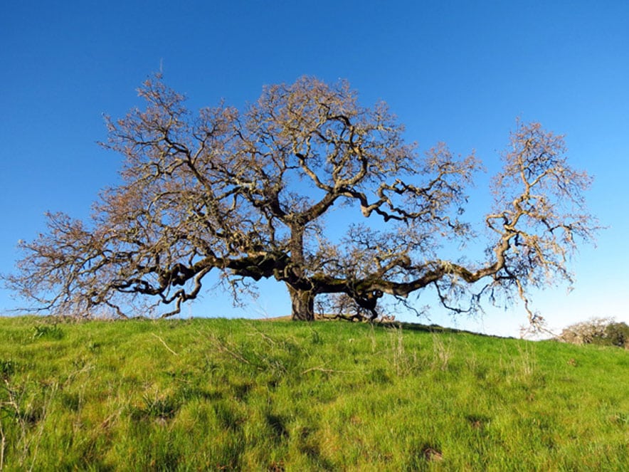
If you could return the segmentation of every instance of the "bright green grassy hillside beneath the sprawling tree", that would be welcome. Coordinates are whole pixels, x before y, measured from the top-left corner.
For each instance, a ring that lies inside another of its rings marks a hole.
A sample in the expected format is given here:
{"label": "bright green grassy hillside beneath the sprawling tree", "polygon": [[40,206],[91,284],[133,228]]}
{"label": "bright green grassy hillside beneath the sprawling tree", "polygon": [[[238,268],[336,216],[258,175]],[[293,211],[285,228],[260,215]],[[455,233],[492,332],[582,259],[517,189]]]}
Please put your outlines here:
{"label": "bright green grassy hillside beneath the sprawling tree", "polygon": [[343,322],[0,318],[6,471],[627,471],[629,352]]}

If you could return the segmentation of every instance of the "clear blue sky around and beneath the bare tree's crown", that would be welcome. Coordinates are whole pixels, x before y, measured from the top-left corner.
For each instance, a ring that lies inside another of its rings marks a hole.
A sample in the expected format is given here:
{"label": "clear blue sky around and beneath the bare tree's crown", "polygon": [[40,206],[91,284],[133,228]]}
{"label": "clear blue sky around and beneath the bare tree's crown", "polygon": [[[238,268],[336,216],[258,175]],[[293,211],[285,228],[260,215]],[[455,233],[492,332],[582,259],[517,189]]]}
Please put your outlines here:
{"label": "clear blue sky around and beneath the bare tree's crown", "polygon": [[[95,142],[102,113],[139,105],[162,67],[192,108],[242,107],[263,84],[347,78],[361,103],[383,99],[421,149],[475,149],[491,173],[516,117],[564,133],[571,162],[596,177],[591,211],[609,226],[573,263],[576,288],[534,296],[551,327],[591,316],[629,322],[629,2],[7,1],[0,15],[0,272],[45,211],[85,217],[120,159]],[[482,177],[477,192],[485,183]],[[18,305],[0,290],[0,313]],[[285,315],[263,285],[248,310],[207,294],[184,315]],[[398,317],[413,320],[408,317]],[[515,305],[443,325],[517,335]],[[425,320],[421,320],[424,321]]]}

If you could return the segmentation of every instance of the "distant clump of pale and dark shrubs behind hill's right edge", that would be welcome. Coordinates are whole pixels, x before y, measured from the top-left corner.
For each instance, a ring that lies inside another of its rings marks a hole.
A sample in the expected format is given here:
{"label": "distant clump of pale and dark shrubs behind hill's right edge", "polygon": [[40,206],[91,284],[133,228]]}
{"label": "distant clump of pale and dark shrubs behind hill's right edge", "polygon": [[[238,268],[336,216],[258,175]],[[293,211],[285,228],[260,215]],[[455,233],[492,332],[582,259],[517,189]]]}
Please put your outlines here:
{"label": "distant clump of pale and dark shrubs behind hill's right edge", "polygon": [[629,326],[612,318],[591,318],[566,327],[556,338],[571,344],[598,344],[629,349]]}

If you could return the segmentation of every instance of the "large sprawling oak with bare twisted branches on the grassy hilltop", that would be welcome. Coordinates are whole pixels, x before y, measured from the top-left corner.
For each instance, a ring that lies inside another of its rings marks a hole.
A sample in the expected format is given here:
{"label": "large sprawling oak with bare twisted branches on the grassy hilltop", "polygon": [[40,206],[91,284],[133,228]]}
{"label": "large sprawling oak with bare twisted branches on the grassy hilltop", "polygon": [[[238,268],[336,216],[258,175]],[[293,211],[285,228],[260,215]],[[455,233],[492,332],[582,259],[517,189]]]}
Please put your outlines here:
{"label": "large sprawling oak with bare twisted branches on the grassy hilltop", "polygon": [[[270,85],[243,113],[221,103],[192,115],[159,76],[139,94],[144,110],[107,120],[103,145],[125,157],[122,184],[102,192],[88,223],[49,214],[48,233],[22,242],[4,276],[40,309],[126,316],[147,295],[172,306],[166,317],[220,271],[235,293],[247,280],[284,283],[295,320],[314,319],[317,295],[349,298],[371,319],[384,294],[433,287],[457,312],[519,295],[534,322],[527,289],[570,281],[566,263],[596,229],[583,206],[590,177],[536,123],[512,133],[487,250],[464,263],[438,251],[477,236],[461,218],[480,162],[443,144],[418,154],[386,105],[361,107],[346,82]],[[333,206],[364,223],[332,237]]]}

